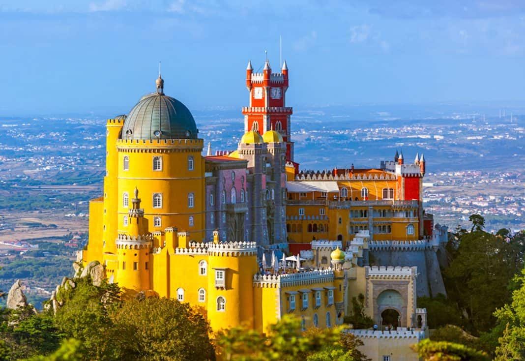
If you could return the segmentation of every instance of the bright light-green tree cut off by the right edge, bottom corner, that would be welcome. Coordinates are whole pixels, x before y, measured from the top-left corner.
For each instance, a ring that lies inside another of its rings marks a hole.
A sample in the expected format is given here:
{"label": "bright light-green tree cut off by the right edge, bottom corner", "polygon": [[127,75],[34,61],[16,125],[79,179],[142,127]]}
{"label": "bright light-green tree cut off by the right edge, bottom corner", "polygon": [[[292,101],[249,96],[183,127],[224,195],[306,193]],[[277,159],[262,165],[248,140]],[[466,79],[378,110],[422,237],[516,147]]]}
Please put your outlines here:
{"label": "bright light-green tree cut off by the right edge, bottom corner", "polygon": [[512,302],[495,313],[498,318],[496,329],[505,327],[496,348],[497,361],[525,359],[525,269],[514,282],[518,288],[512,293]]}

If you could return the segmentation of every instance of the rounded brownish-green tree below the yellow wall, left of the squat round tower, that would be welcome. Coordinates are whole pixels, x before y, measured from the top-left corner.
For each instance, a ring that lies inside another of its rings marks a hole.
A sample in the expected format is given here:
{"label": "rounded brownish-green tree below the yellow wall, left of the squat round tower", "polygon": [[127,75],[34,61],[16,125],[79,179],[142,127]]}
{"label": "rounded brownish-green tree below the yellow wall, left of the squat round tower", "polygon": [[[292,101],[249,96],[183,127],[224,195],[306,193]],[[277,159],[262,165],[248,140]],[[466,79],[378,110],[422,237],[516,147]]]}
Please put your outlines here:
{"label": "rounded brownish-green tree below the yellow wall, left of the squat round tower", "polygon": [[111,314],[111,342],[122,359],[212,360],[207,320],[188,303],[169,298],[130,300]]}

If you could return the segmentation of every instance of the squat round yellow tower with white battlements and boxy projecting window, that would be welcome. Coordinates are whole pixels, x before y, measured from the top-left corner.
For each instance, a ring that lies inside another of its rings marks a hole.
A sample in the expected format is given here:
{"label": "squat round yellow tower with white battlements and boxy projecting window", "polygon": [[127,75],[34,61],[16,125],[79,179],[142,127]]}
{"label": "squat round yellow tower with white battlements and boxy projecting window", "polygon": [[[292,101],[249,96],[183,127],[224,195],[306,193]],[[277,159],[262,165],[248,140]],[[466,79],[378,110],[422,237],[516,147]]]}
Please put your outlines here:
{"label": "squat round yellow tower with white battlements and boxy projecting window", "polygon": [[255,242],[210,243],[208,246],[208,319],[213,329],[254,327],[253,277],[257,273]]}

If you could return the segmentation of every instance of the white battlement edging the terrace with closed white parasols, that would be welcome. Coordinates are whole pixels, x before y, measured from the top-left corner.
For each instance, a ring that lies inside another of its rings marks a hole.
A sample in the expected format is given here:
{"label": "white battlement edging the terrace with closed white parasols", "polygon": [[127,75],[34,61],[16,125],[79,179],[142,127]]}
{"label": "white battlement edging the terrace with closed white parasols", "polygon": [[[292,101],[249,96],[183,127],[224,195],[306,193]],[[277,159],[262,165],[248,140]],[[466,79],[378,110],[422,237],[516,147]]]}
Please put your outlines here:
{"label": "white battlement edging the terrace with closed white parasols", "polygon": [[285,273],[278,275],[254,275],[254,286],[259,287],[287,287],[307,285],[314,283],[333,282],[334,275],[332,269],[314,270],[298,273]]}

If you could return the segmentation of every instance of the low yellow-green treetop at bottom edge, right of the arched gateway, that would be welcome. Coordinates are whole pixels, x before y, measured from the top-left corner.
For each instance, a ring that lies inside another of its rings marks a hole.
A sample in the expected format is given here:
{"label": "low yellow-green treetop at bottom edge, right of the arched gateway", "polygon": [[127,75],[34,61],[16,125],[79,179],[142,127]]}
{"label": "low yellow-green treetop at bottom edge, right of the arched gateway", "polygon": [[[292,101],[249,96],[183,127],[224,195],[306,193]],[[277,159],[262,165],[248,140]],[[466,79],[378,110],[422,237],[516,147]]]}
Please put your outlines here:
{"label": "low yellow-green treetop at bottom edge, right of the arched gateway", "polygon": [[425,361],[489,361],[486,353],[445,341],[430,341],[428,338],[412,346]]}

